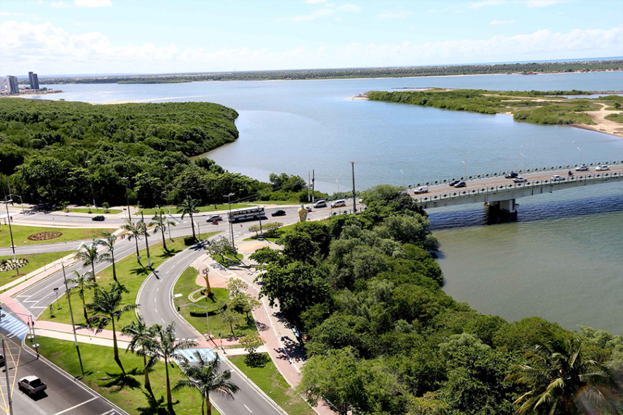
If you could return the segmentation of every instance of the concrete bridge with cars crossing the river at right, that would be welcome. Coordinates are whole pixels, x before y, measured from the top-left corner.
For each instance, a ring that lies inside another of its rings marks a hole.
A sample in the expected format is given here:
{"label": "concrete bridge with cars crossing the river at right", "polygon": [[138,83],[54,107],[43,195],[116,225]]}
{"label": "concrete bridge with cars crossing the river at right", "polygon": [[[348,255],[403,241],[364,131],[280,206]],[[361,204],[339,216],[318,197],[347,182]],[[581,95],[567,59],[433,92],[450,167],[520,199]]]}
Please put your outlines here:
{"label": "concrete bridge with cars crossing the river at right", "polygon": [[[429,186],[428,193],[416,194],[409,190],[409,194],[418,200],[424,209],[481,203],[513,219],[517,216],[516,199],[518,198],[552,193],[570,187],[623,180],[623,165],[620,164],[610,165],[610,170],[602,172],[595,171],[594,167],[587,172],[576,172],[572,169],[573,176],[568,176],[568,172],[569,169],[563,169],[520,174],[527,180],[524,183],[514,183],[513,179],[504,176],[477,178],[466,180],[467,186],[458,189],[444,183]],[[556,175],[560,176],[561,180],[554,179],[553,176]]]}

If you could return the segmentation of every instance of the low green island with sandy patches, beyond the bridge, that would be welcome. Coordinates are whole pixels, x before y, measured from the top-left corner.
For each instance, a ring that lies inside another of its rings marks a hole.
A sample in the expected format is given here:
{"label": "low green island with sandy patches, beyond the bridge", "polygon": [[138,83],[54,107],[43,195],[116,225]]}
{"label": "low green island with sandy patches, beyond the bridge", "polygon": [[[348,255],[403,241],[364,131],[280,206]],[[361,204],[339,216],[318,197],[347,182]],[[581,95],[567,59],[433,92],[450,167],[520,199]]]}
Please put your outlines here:
{"label": "low green island with sandy patches, beyond the bridge", "polygon": [[566,98],[586,91],[489,91],[430,88],[416,91],[372,91],[370,101],[385,101],[477,113],[505,113],[533,124],[569,125],[623,137],[623,96]]}

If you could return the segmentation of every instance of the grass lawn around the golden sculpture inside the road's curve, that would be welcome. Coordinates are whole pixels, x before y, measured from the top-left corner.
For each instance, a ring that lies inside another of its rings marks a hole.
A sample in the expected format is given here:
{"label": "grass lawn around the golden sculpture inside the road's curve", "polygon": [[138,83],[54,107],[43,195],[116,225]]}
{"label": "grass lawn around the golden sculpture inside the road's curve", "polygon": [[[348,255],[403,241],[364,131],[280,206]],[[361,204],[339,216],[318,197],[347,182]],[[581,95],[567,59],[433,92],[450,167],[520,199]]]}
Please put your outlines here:
{"label": "grass lawn around the golden sculpture inside the road's curve", "polygon": [[[188,299],[188,295],[201,287],[195,284],[196,277],[198,272],[196,269],[189,267],[184,271],[179,280],[175,283],[175,288],[173,289],[173,294],[181,294],[181,297],[177,297],[175,299],[176,306],[183,306],[185,304],[191,304],[192,302]],[[209,319],[209,329],[212,332],[213,337],[218,337],[218,332],[220,330],[221,336],[229,337],[231,336],[231,328],[229,327],[229,323],[223,321],[223,317],[221,317],[221,309],[227,302],[229,301],[229,292],[227,289],[212,289],[212,298],[203,296],[198,302],[195,304],[199,304],[199,306],[207,307],[207,315]],[[198,296],[196,296],[198,297]],[[179,314],[181,314],[188,323],[192,324],[196,330],[200,333],[207,333],[207,322],[205,321],[205,309],[201,307],[195,306],[186,306],[180,307]],[[246,319],[246,315],[242,313],[238,313],[240,317],[240,323],[233,326],[233,332],[236,336],[246,336],[246,334],[251,334],[257,332],[255,328],[255,321],[251,314],[249,314],[249,319]]]}

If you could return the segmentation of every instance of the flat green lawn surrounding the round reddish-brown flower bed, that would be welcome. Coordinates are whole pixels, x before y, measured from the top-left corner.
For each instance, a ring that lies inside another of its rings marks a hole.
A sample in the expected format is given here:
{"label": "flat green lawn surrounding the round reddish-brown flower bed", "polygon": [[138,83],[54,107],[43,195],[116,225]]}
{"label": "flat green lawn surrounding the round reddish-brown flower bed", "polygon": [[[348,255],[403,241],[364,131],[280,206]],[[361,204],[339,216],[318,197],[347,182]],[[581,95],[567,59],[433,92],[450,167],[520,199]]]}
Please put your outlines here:
{"label": "flat green lawn surrounding the round reddish-brown flower bed", "polygon": [[[43,226],[21,226],[11,224],[13,232],[13,241],[15,246],[21,245],[38,245],[40,243],[57,243],[67,241],[81,241],[83,239],[93,239],[101,237],[101,229],[89,228],[44,228]],[[30,235],[40,232],[61,232],[60,237],[48,239],[46,241],[31,241],[28,239]],[[0,226],[0,246],[11,246],[11,234],[8,225]]]}

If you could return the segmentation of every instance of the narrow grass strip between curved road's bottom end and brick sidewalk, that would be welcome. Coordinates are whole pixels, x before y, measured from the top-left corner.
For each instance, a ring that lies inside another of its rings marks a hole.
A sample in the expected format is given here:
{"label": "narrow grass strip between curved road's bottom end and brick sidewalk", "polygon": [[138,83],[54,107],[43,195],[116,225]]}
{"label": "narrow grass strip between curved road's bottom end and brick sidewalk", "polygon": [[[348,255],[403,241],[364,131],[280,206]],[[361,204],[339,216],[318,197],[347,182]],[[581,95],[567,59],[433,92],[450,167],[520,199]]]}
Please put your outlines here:
{"label": "narrow grass strip between curved road's bottom end and brick sidewalk", "polygon": [[267,353],[260,353],[264,358],[264,366],[249,367],[246,365],[246,356],[232,356],[229,361],[238,367],[260,389],[277,402],[290,415],[313,415],[316,412],[294,392],[288,382],[277,371],[275,364],[268,358]]}

